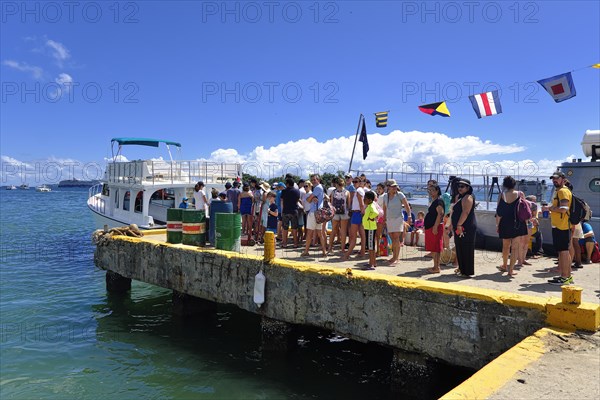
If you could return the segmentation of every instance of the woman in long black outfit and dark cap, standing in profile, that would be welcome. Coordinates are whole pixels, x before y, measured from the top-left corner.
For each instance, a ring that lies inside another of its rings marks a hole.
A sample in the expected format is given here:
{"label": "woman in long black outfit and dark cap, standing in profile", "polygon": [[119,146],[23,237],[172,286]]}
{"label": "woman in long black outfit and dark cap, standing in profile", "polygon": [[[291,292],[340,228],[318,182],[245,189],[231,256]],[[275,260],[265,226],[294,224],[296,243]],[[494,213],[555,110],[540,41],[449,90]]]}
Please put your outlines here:
{"label": "woman in long black outfit and dark cap, standing in profile", "polygon": [[458,261],[458,268],[454,272],[468,278],[475,274],[475,196],[468,179],[461,179],[457,188],[458,198],[452,209],[452,230]]}

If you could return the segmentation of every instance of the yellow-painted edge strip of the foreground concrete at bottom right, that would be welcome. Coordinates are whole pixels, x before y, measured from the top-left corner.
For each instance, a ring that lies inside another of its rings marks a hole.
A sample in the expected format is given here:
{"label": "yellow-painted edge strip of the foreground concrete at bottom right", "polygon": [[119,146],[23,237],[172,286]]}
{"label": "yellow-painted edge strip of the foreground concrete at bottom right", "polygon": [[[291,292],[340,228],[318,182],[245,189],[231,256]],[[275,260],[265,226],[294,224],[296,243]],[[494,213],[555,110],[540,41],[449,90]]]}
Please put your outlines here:
{"label": "yellow-painted edge strip of the foreground concrete at bottom right", "polygon": [[538,360],[548,350],[543,337],[548,334],[565,335],[568,332],[553,328],[542,328],[526,337],[469,379],[446,393],[440,399],[486,399],[507,384],[520,370]]}

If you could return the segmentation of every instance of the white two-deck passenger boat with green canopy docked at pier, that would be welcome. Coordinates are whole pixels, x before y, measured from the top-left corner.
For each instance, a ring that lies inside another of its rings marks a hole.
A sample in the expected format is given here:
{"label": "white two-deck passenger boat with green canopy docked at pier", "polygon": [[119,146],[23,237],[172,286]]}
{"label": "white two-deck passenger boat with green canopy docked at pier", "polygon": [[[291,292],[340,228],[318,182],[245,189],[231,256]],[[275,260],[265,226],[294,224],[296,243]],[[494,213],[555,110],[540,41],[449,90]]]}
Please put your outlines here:
{"label": "white two-deck passenger boat with green canopy docked at pier", "polygon": [[[115,153],[115,145],[118,145]],[[169,161],[145,159],[120,161],[123,146],[166,146]],[[89,189],[87,205],[97,229],[136,224],[140,229],[165,228],[167,209],[177,207],[184,197],[193,197],[197,181],[205,183],[204,191],[216,187],[222,191],[226,181],[242,176],[241,164],[208,161],[173,160],[171,147],[181,144],[156,139],[114,138],[112,160],[104,178]]]}

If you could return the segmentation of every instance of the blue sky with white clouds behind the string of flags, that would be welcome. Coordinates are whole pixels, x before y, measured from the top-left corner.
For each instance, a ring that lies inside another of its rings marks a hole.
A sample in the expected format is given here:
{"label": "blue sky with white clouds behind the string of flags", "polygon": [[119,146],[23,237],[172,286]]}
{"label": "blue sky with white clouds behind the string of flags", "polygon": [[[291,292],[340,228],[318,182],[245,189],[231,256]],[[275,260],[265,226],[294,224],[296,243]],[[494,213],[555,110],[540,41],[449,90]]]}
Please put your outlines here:
{"label": "blue sky with white clouds behind the string of flags", "polygon": [[[599,21],[597,1],[2,2],[2,183],[15,163],[101,162],[119,136],[346,169],[361,113],[358,168],[546,171],[599,129],[600,70],[562,103],[535,82],[600,62]],[[497,87],[504,112],[477,119],[468,95]],[[442,100],[450,118],[417,109]]]}

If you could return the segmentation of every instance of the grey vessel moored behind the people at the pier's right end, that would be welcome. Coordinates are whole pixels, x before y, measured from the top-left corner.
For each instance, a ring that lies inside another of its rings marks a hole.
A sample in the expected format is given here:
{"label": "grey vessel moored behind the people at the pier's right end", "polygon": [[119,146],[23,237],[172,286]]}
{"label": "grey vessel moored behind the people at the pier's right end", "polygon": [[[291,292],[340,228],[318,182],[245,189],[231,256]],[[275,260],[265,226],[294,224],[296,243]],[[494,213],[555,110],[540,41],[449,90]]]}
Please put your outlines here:
{"label": "grey vessel moored behind the people at the pier's right end", "polygon": [[[592,210],[592,219],[589,221],[594,232],[600,232],[600,130],[591,131],[588,130],[583,136],[581,142],[582,150],[585,157],[591,157],[590,161],[582,161],[581,159],[574,159],[571,162],[565,162],[561,164],[557,169],[562,171],[569,181],[573,184],[573,192],[576,196],[585,200]],[[471,182],[477,179],[471,179],[471,176],[465,176],[470,178]],[[498,250],[502,247],[501,240],[498,238],[496,232],[496,201],[491,201],[492,189],[494,186],[492,182],[494,178],[490,180],[489,177],[484,177],[486,181],[485,185],[480,185],[480,190],[476,193],[476,208],[475,216],[477,219],[477,243],[478,247],[485,247],[487,249]],[[518,190],[528,194],[537,195],[538,209],[541,210],[541,202],[546,200],[549,201],[554,196],[554,190],[551,193],[544,195],[545,193],[545,179],[548,177],[542,177],[538,184],[535,181],[518,181]],[[497,182],[497,178],[496,181]],[[441,186],[441,183],[440,183]],[[473,185],[474,190],[477,191],[477,185]],[[442,187],[444,190],[444,187]],[[483,199],[481,201],[481,192],[483,191]],[[497,194],[499,187],[495,191]],[[542,196],[540,196],[542,194]],[[418,211],[427,212],[428,202],[426,199],[410,199],[410,204],[414,209],[415,214]],[[540,213],[541,215],[541,213]],[[550,218],[539,218],[540,231],[542,232],[544,245],[547,247],[552,246],[552,226],[550,225]]]}

